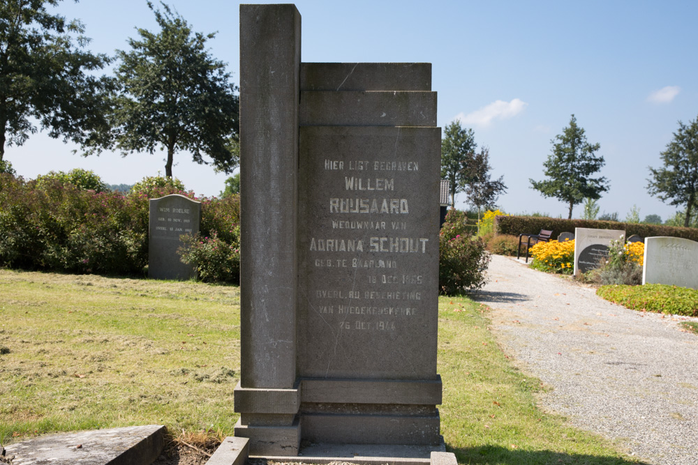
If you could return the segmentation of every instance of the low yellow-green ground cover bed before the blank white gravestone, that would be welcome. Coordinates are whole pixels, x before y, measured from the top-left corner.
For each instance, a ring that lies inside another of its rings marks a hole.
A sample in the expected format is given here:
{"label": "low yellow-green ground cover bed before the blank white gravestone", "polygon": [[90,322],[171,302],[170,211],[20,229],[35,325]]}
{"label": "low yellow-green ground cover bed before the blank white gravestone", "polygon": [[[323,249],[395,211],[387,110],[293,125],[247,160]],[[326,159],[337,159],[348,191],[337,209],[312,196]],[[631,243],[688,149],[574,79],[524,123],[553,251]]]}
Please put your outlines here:
{"label": "low yellow-green ground cover bed before the blank white gravestone", "polygon": [[596,294],[632,310],[698,317],[698,290],[667,284],[602,286]]}

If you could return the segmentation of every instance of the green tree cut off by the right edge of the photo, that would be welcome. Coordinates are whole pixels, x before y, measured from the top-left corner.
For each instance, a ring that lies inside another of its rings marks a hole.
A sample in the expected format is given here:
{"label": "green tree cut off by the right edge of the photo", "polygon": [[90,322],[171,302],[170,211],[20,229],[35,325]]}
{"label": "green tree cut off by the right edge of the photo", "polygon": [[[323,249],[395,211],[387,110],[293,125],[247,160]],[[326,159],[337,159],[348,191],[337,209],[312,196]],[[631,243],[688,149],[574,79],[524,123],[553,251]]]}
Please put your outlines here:
{"label": "green tree cut off by the right edge of the photo", "polygon": [[688,125],[679,121],[674,140],[660,156],[664,166],[649,167],[648,192],[669,205],[685,205],[683,226],[688,227],[698,206],[698,118]]}

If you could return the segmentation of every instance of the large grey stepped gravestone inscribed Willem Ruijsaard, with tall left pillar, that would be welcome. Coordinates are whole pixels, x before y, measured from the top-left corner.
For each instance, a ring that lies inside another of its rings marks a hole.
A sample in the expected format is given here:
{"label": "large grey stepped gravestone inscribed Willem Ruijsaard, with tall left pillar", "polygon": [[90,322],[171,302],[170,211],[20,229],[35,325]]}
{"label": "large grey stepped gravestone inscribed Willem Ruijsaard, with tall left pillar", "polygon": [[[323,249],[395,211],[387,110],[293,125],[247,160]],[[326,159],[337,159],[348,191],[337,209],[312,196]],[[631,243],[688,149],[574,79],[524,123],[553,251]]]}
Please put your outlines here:
{"label": "large grey stepped gravestone inscribed Willem Ruijsaard, with tall left pillar", "polygon": [[443,450],[431,65],[301,63],[293,5],[241,5],[240,22],[235,435],[252,456],[429,458]]}

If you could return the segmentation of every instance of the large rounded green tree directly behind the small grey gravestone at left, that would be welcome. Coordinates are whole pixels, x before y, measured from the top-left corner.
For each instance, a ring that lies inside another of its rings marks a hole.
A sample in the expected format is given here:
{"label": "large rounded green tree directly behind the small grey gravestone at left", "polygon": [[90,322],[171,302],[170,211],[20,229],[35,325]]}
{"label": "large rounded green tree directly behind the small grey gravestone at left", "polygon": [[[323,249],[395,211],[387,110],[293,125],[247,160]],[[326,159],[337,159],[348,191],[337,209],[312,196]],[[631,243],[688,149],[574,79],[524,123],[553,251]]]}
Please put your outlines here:
{"label": "large rounded green tree directly behind the small grey gravestone at left", "polygon": [[[165,176],[172,177],[174,153],[225,173],[237,167],[239,98],[225,63],[214,59],[206,41],[215,34],[193,32],[169,6],[153,10],[159,33],[138,29],[129,52],[118,51],[119,93],[114,100],[112,143],[128,153],[167,151]],[[111,148],[111,147],[108,147]]]}

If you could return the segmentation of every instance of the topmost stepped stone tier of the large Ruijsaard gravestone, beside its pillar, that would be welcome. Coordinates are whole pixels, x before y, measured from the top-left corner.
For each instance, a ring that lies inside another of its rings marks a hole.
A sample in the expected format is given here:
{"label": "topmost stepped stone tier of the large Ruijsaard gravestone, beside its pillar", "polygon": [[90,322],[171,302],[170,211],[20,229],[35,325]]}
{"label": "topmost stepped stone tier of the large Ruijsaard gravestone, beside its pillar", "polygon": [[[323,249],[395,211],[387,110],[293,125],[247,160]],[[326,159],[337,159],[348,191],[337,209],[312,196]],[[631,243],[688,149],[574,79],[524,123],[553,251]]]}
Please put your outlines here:
{"label": "topmost stepped stone tier of the large Ruijsaard gravestone, beside its pillar", "polygon": [[301,63],[302,91],[431,91],[431,63]]}

